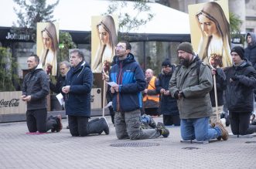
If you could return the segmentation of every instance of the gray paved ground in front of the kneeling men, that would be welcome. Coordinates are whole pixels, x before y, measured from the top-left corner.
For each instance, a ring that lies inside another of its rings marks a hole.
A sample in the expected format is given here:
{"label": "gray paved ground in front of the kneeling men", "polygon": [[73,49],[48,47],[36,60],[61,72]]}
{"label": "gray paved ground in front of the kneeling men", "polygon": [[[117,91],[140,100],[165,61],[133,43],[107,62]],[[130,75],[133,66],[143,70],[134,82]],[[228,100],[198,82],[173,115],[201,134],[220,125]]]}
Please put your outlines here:
{"label": "gray paved ground in front of the kneeling men", "polygon": [[[107,120],[109,135],[89,137],[71,137],[67,119],[54,134],[26,134],[26,122],[0,123],[0,168],[256,168],[256,137],[180,143],[179,127],[168,127],[168,138],[118,140],[109,116]],[[134,144],[155,146],[128,147]]]}

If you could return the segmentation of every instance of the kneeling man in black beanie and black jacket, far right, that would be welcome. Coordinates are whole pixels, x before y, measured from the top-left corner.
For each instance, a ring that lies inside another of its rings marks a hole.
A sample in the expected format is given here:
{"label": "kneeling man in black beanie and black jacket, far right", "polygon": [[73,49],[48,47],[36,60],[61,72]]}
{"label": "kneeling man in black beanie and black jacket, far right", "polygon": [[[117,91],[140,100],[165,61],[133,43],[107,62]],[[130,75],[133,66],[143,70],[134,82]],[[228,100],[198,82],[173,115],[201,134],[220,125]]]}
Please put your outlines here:
{"label": "kneeling man in black beanie and black jacket, far right", "polygon": [[254,133],[249,129],[251,112],[254,110],[254,88],[256,71],[244,56],[244,49],[231,49],[233,66],[224,69],[227,76],[226,101],[229,110],[230,127],[234,135]]}

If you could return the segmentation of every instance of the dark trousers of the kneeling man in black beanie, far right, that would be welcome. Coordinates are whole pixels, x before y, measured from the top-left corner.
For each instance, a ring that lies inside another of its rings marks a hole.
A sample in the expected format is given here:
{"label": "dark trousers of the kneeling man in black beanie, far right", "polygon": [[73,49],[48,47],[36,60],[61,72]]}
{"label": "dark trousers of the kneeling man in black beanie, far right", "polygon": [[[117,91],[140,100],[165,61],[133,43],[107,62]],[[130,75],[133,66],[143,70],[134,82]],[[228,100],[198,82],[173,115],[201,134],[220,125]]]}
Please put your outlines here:
{"label": "dark trousers of the kneeling man in black beanie, far right", "polygon": [[245,135],[250,124],[251,112],[229,113],[230,127],[234,135]]}

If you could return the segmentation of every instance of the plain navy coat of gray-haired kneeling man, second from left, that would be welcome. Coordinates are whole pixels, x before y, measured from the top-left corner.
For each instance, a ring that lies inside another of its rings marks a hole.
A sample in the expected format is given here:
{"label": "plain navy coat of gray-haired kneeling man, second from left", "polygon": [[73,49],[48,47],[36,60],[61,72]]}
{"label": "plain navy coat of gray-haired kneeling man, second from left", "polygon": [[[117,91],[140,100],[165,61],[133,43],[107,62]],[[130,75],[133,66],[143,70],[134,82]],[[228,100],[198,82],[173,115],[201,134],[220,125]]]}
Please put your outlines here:
{"label": "plain navy coat of gray-haired kneeling man, second from left", "polygon": [[67,115],[90,117],[92,83],[93,74],[87,63],[81,62],[75,68],[71,67],[64,85],[70,86],[70,92],[63,93]]}

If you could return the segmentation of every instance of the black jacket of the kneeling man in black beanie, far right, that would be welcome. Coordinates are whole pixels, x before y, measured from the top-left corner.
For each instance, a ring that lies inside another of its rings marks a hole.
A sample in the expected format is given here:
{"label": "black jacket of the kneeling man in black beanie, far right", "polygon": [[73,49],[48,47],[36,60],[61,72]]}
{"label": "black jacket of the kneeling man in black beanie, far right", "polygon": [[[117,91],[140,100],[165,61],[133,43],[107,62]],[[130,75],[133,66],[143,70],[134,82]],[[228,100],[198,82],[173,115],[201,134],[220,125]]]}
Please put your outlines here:
{"label": "black jacket of the kneeling man in black beanie, far right", "polygon": [[[254,88],[256,87],[256,71],[247,60],[240,66],[224,69],[227,90],[225,98],[227,109],[231,112],[252,112],[254,110]],[[236,79],[230,82],[230,78]]]}

